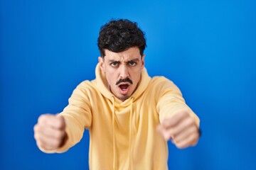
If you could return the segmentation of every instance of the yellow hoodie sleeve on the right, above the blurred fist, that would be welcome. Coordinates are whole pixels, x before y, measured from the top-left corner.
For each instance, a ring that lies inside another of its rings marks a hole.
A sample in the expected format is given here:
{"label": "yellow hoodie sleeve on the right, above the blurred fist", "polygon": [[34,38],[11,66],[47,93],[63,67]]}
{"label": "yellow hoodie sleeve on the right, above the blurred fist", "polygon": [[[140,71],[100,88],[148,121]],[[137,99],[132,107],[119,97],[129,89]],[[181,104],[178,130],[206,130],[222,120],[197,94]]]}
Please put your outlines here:
{"label": "yellow hoodie sleeve on the right, above the blurred fist", "polygon": [[198,116],[186,105],[181,91],[172,81],[161,77],[161,83],[158,88],[160,89],[160,92],[156,109],[159,113],[160,123],[163,122],[164,118],[170,118],[179,111],[186,111],[192,118],[194,118],[196,125],[198,125],[199,128],[200,120]]}

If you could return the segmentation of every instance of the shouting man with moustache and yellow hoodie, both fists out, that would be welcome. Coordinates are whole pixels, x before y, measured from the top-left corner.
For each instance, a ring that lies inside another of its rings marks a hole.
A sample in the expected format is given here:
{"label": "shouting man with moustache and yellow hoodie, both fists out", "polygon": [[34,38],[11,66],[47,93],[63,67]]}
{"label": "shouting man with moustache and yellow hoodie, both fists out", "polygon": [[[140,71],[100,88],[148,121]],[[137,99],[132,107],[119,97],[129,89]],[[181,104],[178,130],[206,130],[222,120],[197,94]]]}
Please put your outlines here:
{"label": "shouting man with moustache and yellow hoodie, both fists out", "polygon": [[110,21],[97,43],[96,79],[83,81],[59,115],[34,127],[38,147],[65,152],[90,131],[90,169],[168,169],[168,140],[194,146],[199,119],[178,87],[144,68],[146,40],[137,23]]}

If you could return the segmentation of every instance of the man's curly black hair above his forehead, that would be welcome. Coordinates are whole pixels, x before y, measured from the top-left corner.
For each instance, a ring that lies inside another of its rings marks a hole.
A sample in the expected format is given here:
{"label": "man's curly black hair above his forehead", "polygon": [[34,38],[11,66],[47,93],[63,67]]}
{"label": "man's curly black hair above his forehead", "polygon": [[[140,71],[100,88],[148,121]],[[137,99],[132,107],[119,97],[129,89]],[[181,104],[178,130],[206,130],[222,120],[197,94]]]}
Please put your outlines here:
{"label": "man's curly black hair above his forehead", "polygon": [[111,20],[100,28],[97,45],[101,57],[105,57],[105,50],[123,52],[130,47],[139,47],[140,55],[146,47],[145,33],[138,28],[137,23],[127,19]]}

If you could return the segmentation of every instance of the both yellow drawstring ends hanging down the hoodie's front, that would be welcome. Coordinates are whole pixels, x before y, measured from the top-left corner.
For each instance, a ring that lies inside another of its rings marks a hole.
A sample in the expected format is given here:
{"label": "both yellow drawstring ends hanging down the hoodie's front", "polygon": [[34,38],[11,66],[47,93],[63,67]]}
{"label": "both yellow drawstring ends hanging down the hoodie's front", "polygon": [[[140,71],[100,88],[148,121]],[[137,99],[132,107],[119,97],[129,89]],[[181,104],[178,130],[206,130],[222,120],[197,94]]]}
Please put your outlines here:
{"label": "both yellow drawstring ends hanging down the hoodie's front", "polygon": [[[130,114],[129,114],[129,169],[132,169],[132,104],[134,98],[132,97],[130,104]],[[117,154],[116,154],[116,140],[115,140],[115,127],[114,127],[114,116],[115,116],[115,108],[114,108],[114,96],[112,96],[112,133],[113,133],[113,169],[116,169],[117,164]]]}

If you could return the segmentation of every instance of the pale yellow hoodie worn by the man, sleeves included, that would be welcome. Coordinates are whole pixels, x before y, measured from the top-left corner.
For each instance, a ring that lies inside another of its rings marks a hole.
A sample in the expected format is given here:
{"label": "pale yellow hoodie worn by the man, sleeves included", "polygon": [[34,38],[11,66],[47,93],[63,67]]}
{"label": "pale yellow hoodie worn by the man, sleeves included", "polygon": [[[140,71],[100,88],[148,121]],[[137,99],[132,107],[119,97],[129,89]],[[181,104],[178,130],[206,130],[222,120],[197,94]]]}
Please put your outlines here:
{"label": "pale yellow hoodie worn by the man, sleeves included", "polygon": [[88,129],[90,169],[168,169],[167,143],[156,132],[156,126],[184,109],[199,126],[181,91],[164,77],[149,77],[144,69],[137,90],[126,101],[120,101],[108,89],[99,64],[95,72],[96,79],[79,84],[60,113],[68,134],[65,145],[43,152],[65,152]]}

